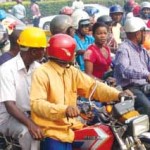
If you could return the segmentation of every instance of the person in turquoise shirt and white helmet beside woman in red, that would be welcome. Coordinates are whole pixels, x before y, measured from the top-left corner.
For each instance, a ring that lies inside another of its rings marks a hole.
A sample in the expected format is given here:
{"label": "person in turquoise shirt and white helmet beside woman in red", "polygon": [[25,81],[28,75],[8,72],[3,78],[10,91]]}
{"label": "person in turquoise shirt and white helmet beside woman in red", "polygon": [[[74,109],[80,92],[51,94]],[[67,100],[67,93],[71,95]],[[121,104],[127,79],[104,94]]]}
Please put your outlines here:
{"label": "person in turquoise shirt and white helmet beside woman in red", "polygon": [[82,71],[85,71],[83,55],[89,45],[94,43],[90,32],[90,17],[83,10],[76,10],[72,14],[73,27],[76,29],[74,39],[76,41],[76,61]]}

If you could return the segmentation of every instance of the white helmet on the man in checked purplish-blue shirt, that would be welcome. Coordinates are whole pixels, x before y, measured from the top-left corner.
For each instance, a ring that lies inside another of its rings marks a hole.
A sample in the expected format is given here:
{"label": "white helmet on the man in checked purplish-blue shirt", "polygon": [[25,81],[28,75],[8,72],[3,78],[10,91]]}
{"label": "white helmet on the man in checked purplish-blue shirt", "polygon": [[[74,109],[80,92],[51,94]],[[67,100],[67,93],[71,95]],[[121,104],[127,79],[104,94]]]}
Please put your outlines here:
{"label": "white helmet on the man in checked purplish-blue shirt", "polygon": [[124,25],[125,32],[137,32],[147,28],[145,22],[139,17],[127,19]]}

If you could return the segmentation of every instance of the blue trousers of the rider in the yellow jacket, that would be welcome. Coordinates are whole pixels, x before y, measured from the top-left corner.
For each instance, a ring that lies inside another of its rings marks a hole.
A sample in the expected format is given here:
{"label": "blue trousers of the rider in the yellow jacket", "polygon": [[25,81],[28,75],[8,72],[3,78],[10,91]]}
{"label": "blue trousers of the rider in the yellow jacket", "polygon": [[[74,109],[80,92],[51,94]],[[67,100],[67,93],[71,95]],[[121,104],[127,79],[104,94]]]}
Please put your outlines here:
{"label": "blue trousers of the rider in the yellow jacket", "polygon": [[41,141],[40,150],[72,150],[72,143],[60,142],[51,138]]}

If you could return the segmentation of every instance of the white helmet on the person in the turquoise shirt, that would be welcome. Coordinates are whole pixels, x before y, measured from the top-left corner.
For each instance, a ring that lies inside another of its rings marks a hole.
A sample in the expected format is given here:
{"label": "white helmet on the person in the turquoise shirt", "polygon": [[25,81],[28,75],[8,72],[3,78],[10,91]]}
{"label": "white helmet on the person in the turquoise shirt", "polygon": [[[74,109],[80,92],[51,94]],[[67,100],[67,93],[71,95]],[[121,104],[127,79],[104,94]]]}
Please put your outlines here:
{"label": "white helmet on the person in the turquoise shirt", "polygon": [[72,13],[71,17],[72,17],[72,20],[73,20],[73,27],[75,29],[78,29],[78,25],[79,25],[80,20],[90,19],[88,13],[86,13],[85,11],[83,11],[81,9],[76,9]]}

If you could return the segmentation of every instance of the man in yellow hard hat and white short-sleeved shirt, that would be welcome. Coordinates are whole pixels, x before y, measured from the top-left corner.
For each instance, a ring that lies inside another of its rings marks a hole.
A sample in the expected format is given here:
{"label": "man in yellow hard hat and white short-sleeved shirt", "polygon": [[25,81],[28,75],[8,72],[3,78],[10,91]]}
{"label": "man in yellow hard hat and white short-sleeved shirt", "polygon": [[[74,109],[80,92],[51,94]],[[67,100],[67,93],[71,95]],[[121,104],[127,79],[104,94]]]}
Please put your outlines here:
{"label": "man in yellow hard hat and white short-sleeved shirt", "polygon": [[22,150],[38,150],[43,133],[30,119],[31,75],[47,46],[43,30],[28,27],[17,40],[20,53],[0,67],[0,132],[19,141]]}

